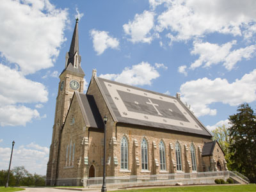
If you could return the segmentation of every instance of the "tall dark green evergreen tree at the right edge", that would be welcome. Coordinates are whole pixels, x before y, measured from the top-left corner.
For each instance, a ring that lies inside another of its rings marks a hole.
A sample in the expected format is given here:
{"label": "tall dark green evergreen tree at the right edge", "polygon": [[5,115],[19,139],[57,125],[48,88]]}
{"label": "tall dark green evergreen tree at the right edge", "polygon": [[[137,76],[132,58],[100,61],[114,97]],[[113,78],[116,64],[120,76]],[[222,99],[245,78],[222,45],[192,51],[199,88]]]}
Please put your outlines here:
{"label": "tall dark green evergreen tree at the right edge", "polygon": [[230,165],[232,169],[256,182],[256,116],[248,104],[241,104],[237,113],[230,115]]}

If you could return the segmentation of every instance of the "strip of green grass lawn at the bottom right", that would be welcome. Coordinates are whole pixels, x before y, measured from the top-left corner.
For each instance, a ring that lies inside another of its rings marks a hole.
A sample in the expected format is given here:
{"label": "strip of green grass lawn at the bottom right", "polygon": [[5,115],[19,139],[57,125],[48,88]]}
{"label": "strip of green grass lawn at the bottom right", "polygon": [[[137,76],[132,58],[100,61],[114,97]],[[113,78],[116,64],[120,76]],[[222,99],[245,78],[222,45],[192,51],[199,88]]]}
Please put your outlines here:
{"label": "strip of green grass lawn at the bottom right", "polygon": [[187,187],[170,187],[170,188],[151,188],[151,189],[129,189],[118,190],[115,192],[256,192],[256,184],[234,185],[234,186],[187,186]]}

